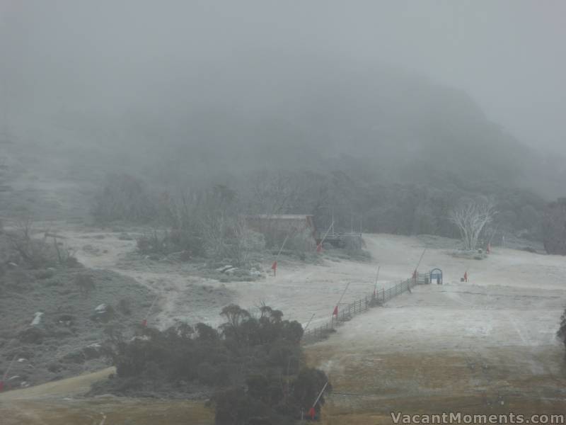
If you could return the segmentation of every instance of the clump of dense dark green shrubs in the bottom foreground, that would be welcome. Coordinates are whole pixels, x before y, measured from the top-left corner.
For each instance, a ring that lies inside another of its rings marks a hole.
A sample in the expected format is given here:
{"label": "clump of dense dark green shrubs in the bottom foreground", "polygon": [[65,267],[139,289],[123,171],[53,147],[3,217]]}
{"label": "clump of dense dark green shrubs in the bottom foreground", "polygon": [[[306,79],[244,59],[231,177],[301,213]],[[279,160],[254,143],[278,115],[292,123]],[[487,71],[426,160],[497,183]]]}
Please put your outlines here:
{"label": "clump of dense dark green shrubs in the bottom foreground", "polygon": [[301,324],[265,305],[258,314],[229,305],[221,315],[226,322],[219,330],[179,324],[165,331],[140,328],[131,341],[113,336],[105,351],[117,378],[103,391],[132,395],[150,381],[157,392],[185,391],[192,382],[214,392],[216,424],[293,424],[328,380],[304,367]]}

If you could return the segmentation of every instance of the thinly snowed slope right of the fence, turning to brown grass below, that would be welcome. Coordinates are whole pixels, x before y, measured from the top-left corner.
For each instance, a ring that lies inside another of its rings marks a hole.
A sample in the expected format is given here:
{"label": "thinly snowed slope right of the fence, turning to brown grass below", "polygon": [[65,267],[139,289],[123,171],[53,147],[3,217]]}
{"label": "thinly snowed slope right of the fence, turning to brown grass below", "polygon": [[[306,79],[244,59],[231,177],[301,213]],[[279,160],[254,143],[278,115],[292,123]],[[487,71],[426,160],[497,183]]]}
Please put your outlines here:
{"label": "thinly snowed slope right of the fence, turning to brown grass below", "polygon": [[[422,239],[367,239],[386,270],[403,270],[422,250]],[[566,363],[556,331],[566,306],[566,259],[514,249],[458,259],[436,245],[421,268],[442,268],[444,285],[395,297],[308,348],[337,392],[328,412],[342,421],[333,424],[374,424],[393,409],[563,410]],[[462,283],[466,270],[470,282]]]}

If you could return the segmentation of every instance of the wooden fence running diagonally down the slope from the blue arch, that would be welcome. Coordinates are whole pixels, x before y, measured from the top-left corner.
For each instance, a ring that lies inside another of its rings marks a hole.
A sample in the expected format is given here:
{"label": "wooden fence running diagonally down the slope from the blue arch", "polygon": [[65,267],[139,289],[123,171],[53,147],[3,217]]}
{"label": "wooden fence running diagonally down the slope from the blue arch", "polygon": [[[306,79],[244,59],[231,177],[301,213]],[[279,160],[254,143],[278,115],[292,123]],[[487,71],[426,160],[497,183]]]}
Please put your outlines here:
{"label": "wooden fence running diagonally down the slope from the blue arch", "polygon": [[312,344],[316,341],[328,338],[331,333],[335,332],[335,327],[343,322],[349,321],[356,314],[363,313],[371,307],[383,305],[384,302],[387,302],[388,300],[391,300],[391,298],[410,290],[410,288],[413,288],[416,285],[424,285],[427,283],[430,283],[429,273],[419,273],[414,278],[402,280],[387,289],[383,288],[376,290],[375,293],[366,295],[365,297],[355,300],[350,304],[338,305],[337,316],[333,315],[330,322],[326,322],[319,327],[307,329],[303,335],[303,342],[304,344]]}

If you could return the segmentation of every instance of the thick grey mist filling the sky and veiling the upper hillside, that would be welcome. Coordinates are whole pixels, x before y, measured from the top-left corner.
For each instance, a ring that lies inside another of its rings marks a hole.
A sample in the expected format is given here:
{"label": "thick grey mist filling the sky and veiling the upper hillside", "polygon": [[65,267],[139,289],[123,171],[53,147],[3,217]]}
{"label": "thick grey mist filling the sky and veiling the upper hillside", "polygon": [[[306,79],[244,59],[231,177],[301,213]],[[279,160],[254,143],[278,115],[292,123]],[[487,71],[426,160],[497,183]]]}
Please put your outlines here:
{"label": "thick grey mist filling the sky and veiling the upper hillside", "polygon": [[8,1],[2,137],[56,178],[83,181],[338,170],[554,198],[560,8]]}

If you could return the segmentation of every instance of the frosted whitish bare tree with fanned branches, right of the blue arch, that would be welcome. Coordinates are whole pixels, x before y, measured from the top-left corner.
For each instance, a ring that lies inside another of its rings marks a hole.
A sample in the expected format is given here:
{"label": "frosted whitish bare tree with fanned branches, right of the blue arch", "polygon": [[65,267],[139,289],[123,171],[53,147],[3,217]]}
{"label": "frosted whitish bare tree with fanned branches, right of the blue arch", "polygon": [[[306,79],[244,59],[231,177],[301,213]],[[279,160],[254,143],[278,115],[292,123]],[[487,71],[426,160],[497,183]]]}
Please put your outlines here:
{"label": "frosted whitish bare tree with fanned branches, right of the blue arch", "polygon": [[485,225],[492,222],[495,209],[492,200],[467,200],[449,213],[449,220],[458,227],[464,249],[473,250]]}

